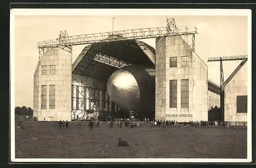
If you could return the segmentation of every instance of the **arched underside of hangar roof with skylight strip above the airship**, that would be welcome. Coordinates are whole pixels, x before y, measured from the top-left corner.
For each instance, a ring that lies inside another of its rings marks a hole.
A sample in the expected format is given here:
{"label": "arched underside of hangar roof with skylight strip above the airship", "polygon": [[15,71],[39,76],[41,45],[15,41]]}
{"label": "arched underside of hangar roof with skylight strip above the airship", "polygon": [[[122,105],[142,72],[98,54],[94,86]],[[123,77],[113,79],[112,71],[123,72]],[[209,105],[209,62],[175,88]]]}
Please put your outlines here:
{"label": "arched underside of hangar roof with skylight strip above the airship", "polygon": [[155,49],[138,40],[94,43],[83,48],[72,72],[107,81],[117,69],[134,64],[155,67]]}

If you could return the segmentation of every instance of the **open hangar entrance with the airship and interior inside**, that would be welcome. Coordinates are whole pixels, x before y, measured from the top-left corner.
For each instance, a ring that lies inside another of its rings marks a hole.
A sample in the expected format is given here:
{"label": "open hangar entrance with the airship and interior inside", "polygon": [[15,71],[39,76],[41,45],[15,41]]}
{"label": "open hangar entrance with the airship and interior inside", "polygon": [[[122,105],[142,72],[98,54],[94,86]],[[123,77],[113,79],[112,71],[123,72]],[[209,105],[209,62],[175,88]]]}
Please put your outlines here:
{"label": "open hangar entrance with the airship and interior inside", "polygon": [[150,93],[155,101],[154,86],[150,88],[144,83],[151,80],[155,84],[154,78],[143,71],[155,69],[154,63],[154,48],[137,40],[84,47],[72,66],[72,120],[129,118],[131,110],[135,116],[153,118],[155,107],[142,112],[141,105]]}

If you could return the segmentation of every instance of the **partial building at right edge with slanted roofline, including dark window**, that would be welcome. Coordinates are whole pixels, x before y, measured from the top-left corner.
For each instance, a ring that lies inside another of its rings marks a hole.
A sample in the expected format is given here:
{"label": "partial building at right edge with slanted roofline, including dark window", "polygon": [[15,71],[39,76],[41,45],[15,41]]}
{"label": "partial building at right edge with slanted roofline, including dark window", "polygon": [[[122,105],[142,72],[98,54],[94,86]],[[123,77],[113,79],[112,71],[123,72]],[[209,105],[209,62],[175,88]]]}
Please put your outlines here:
{"label": "partial building at right edge with slanted roofline, including dark window", "polygon": [[247,122],[247,60],[242,61],[221,87],[223,120],[232,124]]}

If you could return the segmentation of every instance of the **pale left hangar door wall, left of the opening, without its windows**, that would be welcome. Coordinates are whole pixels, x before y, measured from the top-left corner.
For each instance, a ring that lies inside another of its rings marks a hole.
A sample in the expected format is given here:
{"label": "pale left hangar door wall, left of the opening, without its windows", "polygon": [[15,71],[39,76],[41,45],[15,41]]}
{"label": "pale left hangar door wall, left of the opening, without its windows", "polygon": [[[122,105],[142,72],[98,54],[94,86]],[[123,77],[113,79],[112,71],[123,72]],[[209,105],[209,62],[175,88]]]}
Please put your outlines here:
{"label": "pale left hangar door wall, left of the opening, without its windows", "polygon": [[[55,74],[50,74],[55,65]],[[41,74],[41,66],[47,66],[47,74]],[[34,117],[38,121],[71,120],[72,54],[54,47],[49,48],[38,62],[34,73]],[[41,86],[47,85],[47,108],[41,109]],[[49,89],[55,85],[55,109],[49,109]]]}

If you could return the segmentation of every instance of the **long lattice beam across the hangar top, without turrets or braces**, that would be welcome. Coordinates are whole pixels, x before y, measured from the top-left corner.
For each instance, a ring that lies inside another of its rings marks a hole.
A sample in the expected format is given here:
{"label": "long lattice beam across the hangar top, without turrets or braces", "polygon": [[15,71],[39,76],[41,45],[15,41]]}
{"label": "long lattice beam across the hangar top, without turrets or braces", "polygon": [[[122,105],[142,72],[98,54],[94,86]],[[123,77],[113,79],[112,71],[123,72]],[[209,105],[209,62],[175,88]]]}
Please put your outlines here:
{"label": "long lattice beam across the hangar top, without turrets or braces", "polygon": [[[63,34],[61,32],[61,34]],[[138,40],[147,38],[157,38],[162,36],[190,35],[197,34],[196,27],[185,27],[174,31],[168,31],[167,27],[154,27],[145,29],[134,29],[117,32],[106,32],[98,34],[78,35],[78,36],[60,36],[57,39],[47,40],[37,43],[38,48],[65,46],[70,50],[69,46],[83,45],[92,43],[108,43],[126,40]],[[109,38],[113,37],[113,38]],[[63,47],[64,48],[64,47]],[[67,50],[68,50],[67,49]]]}

